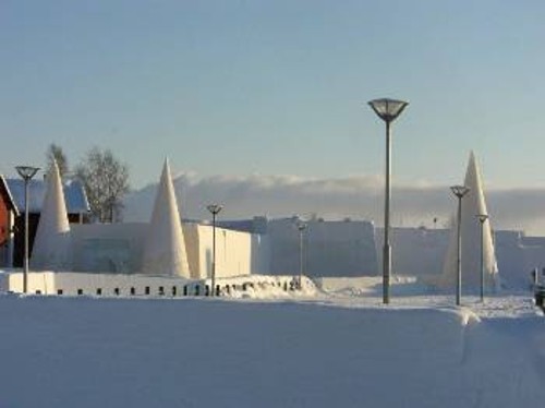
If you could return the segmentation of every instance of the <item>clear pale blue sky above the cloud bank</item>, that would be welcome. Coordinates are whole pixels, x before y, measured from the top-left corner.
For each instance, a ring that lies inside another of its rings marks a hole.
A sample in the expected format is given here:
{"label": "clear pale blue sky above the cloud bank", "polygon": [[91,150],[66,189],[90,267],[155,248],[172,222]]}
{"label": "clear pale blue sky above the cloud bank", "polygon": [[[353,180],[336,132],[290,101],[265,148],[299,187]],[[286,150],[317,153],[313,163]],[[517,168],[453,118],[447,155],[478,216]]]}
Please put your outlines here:
{"label": "clear pale blue sky above the cloud bank", "polygon": [[0,4],[0,172],[94,145],[132,185],[174,172],[384,172],[545,187],[543,1],[24,1]]}

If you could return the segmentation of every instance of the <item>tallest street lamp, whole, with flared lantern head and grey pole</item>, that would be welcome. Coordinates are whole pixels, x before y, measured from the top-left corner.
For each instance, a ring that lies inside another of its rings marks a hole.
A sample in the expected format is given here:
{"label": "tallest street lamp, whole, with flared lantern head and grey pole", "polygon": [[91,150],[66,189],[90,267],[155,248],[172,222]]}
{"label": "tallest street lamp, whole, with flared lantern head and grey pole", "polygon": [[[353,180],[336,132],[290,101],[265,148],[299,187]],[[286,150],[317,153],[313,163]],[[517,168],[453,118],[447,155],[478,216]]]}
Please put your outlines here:
{"label": "tallest street lamp, whole, with flared lantern head and grey pole", "polygon": [[391,131],[390,123],[409,105],[403,100],[396,99],[374,99],[368,103],[380,119],[386,122],[386,192],[384,203],[384,247],[383,247],[383,302],[390,302],[390,269],[391,269],[391,247],[390,247],[390,172],[391,172]]}

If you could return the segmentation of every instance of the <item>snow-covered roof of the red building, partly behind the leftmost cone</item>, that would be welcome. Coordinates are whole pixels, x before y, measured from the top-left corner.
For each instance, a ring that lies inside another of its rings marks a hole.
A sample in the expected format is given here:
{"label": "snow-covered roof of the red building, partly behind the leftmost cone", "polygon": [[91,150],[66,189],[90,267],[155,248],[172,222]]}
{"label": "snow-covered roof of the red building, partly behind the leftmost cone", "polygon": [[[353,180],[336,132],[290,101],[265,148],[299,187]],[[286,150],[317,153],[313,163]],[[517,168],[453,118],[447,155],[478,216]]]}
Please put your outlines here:
{"label": "snow-covered roof of the red building, partly behind the leftmost cone", "polygon": [[[5,179],[8,191],[13,197],[13,203],[17,211],[25,211],[25,183],[23,179]],[[28,183],[28,213],[41,213],[44,197],[46,195],[47,183],[44,180],[31,180]],[[80,214],[89,212],[87,194],[82,183],[77,180],[70,180],[64,183],[64,199],[66,201],[66,212],[69,214]]]}

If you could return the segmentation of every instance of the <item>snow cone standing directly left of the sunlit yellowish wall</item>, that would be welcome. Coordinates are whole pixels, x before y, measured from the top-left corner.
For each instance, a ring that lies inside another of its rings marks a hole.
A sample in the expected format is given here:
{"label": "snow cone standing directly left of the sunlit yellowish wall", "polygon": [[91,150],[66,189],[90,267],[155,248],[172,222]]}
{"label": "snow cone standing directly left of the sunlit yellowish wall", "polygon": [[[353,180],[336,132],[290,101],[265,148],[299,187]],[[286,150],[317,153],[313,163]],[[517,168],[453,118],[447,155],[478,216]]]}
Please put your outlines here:
{"label": "snow cone standing directly left of the sunlit yellowish wall", "polygon": [[142,259],[143,274],[190,277],[180,213],[165,160]]}

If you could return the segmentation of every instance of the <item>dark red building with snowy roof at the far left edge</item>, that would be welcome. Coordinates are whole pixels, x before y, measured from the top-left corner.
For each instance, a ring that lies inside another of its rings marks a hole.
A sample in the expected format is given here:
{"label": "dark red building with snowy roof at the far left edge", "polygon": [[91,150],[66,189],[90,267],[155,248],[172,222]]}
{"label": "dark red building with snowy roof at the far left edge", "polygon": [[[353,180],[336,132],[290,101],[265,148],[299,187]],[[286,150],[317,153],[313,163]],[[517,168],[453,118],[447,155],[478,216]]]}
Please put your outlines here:
{"label": "dark red building with snowy roof at the far left edge", "polygon": [[[39,223],[47,184],[31,180],[28,184],[29,254]],[[64,184],[64,201],[71,224],[87,221],[89,204],[78,181]],[[5,179],[0,175],[0,267],[21,267],[24,256],[25,187],[22,179]]]}

